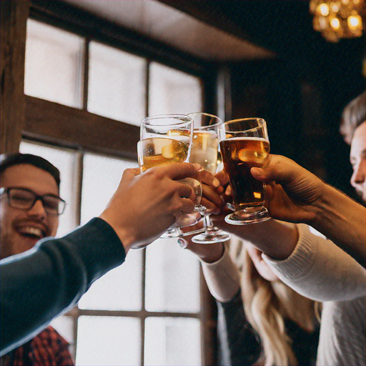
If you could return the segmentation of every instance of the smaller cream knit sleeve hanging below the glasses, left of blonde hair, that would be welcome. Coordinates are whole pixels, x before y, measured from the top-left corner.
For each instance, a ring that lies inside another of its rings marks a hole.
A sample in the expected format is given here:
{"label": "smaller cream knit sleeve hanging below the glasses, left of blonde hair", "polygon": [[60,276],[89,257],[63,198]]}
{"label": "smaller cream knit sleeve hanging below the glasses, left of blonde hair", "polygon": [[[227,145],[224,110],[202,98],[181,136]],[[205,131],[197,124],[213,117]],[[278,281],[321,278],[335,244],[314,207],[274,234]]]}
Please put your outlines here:
{"label": "smaller cream knit sleeve hanging below the glasses, left of blonde hair", "polygon": [[237,266],[229,256],[227,246],[224,246],[223,256],[214,263],[202,263],[204,279],[211,295],[219,302],[228,302],[240,288],[240,274]]}

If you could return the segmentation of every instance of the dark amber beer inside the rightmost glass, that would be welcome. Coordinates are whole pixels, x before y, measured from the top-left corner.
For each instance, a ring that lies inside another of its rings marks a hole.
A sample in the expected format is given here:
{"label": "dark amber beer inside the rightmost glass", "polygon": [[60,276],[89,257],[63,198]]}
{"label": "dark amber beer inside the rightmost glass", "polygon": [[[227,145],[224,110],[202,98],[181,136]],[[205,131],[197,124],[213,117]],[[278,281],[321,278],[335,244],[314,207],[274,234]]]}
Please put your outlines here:
{"label": "dark amber beer inside the rightmost glass", "polygon": [[252,167],[262,167],[269,154],[269,142],[254,137],[237,137],[220,142],[225,172],[229,175],[236,211],[262,205],[265,186],[250,174]]}

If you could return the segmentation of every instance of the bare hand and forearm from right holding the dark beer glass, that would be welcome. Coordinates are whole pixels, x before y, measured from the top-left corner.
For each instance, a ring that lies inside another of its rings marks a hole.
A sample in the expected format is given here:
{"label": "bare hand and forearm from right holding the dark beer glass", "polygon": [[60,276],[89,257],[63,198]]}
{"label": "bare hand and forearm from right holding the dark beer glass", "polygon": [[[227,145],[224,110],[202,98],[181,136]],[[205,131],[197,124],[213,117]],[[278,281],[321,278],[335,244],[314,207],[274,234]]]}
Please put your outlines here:
{"label": "bare hand and forearm from right holding the dark beer glass", "polygon": [[279,155],[271,155],[266,167],[252,168],[252,174],[269,184],[272,217],[310,224],[365,267],[365,207]]}

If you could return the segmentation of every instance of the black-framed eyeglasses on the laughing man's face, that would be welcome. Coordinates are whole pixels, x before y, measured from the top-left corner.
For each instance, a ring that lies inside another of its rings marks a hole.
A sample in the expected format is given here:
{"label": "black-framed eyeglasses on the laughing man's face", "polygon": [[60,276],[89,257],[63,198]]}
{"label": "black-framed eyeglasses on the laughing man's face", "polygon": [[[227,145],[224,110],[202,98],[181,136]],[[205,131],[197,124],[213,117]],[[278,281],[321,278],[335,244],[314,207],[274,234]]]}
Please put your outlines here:
{"label": "black-framed eyeglasses on the laughing man's face", "polygon": [[49,216],[59,216],[64,213],[66,202],[64,199],[53,194],[38,194],[27,188],[0,188],[0,196],[7,194],[9,207],[14,209],[23,209],[27,211],[31,209],[34,204],[40,200],[43,204],[44,211]]}

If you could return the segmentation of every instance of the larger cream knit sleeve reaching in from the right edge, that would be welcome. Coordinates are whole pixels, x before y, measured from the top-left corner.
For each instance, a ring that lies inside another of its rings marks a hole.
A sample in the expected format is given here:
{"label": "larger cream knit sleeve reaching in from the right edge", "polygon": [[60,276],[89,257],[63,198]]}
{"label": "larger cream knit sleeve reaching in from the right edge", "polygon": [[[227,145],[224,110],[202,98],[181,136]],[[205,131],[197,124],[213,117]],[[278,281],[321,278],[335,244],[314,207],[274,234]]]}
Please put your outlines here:
{"label": "larger cream knit sleeve reaching in from the right edge", "polygon": [[352,300],[366,293],[366,271],[330,240],[297,225],[299,241],[285,260],[263,259],[280,280],[305,297],[317,301]]}

